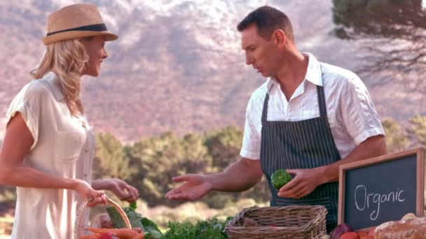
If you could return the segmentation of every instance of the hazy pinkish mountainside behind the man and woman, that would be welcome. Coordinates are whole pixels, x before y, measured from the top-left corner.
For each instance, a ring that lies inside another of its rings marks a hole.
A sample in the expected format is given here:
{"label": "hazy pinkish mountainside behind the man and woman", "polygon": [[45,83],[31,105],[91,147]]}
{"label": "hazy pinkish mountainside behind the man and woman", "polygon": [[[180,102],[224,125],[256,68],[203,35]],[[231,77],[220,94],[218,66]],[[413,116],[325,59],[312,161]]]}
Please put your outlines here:
{"label": "hazy pinkish mountainside behind the man and woman", "polygon": [[[43,54],[48,13],[77,2],[0,1],[3,115]],[[83,103],[97,132],[109,131],[124,142],[167,130],[181,135],[228,124],[242,127],[249,96],[264,79],[245,65],[235,26],[267,2],[289,15],[300,50],[352,71],[362,61],[359,43],[331,34],[331,1],[85,2],[99,7],[109,29],[120,38],[107,43],[109,58],[101,75],[83,78]],[[406,120],[425,113],[418,94],[391,84],[373,87],[370,81],[364,79],[380,116]]]}

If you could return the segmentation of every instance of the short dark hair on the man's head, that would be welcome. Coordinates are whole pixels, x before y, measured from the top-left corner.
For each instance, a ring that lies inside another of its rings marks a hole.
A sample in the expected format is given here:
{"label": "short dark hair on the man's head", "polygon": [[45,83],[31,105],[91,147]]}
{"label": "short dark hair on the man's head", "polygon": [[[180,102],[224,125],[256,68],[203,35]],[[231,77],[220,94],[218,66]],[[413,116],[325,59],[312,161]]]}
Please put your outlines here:
{"label": "short dark hair on the man's head", "polygon": [[293,27],[291,27],[289,17],[277,8],[270,6],[257,8],[238,24],[237,29],[243,31],[251,24],[256,24],[259,36],[267,40],[276,29],[281,29],[285,36],[294,42]]}

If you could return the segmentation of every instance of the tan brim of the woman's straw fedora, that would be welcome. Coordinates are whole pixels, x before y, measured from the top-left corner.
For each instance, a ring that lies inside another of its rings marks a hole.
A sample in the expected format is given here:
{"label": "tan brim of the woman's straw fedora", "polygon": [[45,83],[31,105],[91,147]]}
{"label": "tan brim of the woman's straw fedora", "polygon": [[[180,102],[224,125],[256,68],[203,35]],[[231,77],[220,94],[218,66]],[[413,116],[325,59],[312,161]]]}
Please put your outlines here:
{"label": "tan brim of the woman's straw fedora", "polygon": [[112,34],[109,31],[64,31],[43,37],[43,43],[44,45],[49,45],[57,41],[65,41],[86,36],[105,36],[105,41],[114,41],[118,38],[116,34]]}

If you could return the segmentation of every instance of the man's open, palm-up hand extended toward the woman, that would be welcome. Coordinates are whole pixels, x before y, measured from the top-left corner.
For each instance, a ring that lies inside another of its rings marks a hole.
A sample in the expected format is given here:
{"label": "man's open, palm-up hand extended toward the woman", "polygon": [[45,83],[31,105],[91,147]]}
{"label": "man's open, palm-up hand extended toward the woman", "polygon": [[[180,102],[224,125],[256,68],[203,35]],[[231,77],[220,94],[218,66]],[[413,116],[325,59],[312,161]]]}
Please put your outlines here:
{"label": "man's open, palm-up hand extended toward the woman", "polygon": [[188,174],[173,178],[174,182],[184,182],[180,187],[173,189],[165,198],[170,200],[196,200],[212,190],[212,184],[207,182],[204,175]]}

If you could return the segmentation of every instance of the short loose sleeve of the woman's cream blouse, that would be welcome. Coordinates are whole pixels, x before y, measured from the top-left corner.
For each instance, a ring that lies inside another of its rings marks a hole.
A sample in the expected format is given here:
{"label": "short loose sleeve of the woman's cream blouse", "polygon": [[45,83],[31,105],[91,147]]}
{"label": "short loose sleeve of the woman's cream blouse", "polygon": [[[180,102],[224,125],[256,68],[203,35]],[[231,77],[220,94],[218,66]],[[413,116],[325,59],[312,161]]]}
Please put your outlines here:
{"label": "short loose sleeve of the woman's cream blouse", "polygon": [[37,144],[39,138],[39,114],[40,114],[40,91],[32,87],[32,83],[29,83],[15,96],[15,99],[11,102],[11,105],[6,111],[6,126],[11,122],[11,119],[20,113],[22,118],[27,125],[27,128],[34,138],[34,143],[31,146],[32,150]]}

